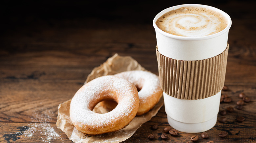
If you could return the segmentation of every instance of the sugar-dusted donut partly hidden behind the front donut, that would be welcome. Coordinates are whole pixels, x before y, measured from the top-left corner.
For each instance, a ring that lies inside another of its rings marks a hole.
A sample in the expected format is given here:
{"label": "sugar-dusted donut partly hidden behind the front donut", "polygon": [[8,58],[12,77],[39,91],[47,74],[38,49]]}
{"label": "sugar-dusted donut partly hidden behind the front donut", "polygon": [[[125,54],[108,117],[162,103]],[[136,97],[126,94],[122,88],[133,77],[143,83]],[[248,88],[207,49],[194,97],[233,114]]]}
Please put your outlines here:
{"label": "sugar-dusted donut partly hidden behind the front donut", "polygon": [[[138,88],[139,110],[137,115],[142,115],[152,109],[162,97],[159,77],[149,71],[124,71],[114,76],[122,77]],[[117,103],[114,101],[103,101],[103,107],[112,110]]]}

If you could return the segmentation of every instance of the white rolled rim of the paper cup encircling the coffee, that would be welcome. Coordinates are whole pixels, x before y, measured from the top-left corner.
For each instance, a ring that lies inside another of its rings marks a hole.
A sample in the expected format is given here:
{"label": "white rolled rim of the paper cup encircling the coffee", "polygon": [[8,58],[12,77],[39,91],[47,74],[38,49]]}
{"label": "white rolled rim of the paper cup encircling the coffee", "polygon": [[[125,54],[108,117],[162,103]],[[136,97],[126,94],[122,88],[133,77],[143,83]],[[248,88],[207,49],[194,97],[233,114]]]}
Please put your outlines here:
{"label": "white rolled rim of the paper cup encircling the coffee", "polygon": [[[189,6],[209,8],[209,9],[215,10],[217,12],[220,12],[227,19],[227,24],[228,24],[227,27],[225,29],[223,29],[222,31],[220,31],[218,33],[215,33],[215,34],[212,34],[212,35],[201,36],[201,37],[184,37],[184,36],[177,36],[177,35],[173,35],[173,34],[164,32],[156,25],[156,21],[158,20],[158,18],[160,16],[162,16],[163,14],[165,14],[166,12],[171,11],[171,10],[175,10],[175,9],[178,9],[178,8],[181,8],[181,7],[189,7]],[[218,8],[215,8],[215,7],[212,7],[212,6],[207,6],[207,5],[201,5],[201,4],[183,4],[183,5],[177,5],[177,6],[169,7],[169,8],[166,8],[166,9],[162,10],[161,12],[159,12],[153,20],[153,26],[154,26],[156,31],[160,32],[162,35],[164,35],[166,37],[170,37],[170,38],[174,38],[174,39],[178,39],[178,40],[207,40],[207,39],[215,38],[215,37],[220,36],[220,35],[224,34],[225,32],[227,32],[230,29],[231,24],[232,24],[231,18],[227,13],[225,13],[224,11],[222,11]]]}

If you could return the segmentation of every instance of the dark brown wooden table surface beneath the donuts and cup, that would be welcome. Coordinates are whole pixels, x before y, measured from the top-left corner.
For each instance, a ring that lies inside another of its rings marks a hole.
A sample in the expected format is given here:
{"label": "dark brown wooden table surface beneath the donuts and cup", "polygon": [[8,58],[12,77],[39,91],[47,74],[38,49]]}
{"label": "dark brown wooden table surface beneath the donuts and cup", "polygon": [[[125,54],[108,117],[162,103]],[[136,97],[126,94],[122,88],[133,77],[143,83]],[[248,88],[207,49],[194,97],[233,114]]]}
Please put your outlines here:
{"label": "dark brown wooden table surface beneath the donuts and cup", "polygon": [[[235,107],[239,93],[251,98],[227,121],[201,133],[160,135],[168,126],[164,106],[124,143],[256,142],[256,2],[255,1],[5,1],[0,27],[0,142],[72,142],[55,125],[58,105],[71,99],[94,67],[118,53],[132,56],[158,74],[153,18],[162,9],[186,3],[220,8],[232,19],[225,85]],[[236,118],[243,116],[243,122]],[[218,119],[221,118],[218,115]],[[155,131],[150,127],[158,124]],[[228,132],[226,138],[218,133]],[[155,140],[148,140],[155,134]]]}

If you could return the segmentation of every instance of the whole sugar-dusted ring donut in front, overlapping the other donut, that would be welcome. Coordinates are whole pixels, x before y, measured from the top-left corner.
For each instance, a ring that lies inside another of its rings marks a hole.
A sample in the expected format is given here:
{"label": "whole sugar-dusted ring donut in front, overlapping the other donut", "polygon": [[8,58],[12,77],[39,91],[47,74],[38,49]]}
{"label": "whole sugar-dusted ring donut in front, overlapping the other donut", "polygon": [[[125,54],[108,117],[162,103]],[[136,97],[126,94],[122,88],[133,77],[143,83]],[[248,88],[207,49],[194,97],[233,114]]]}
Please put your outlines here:
{"label": "whole sugar-dusted ring donut in front, overlapping the other donut", "polygon": [[[114,100],[117,107],[99,114],[93,108],[102,100]],[[136,116],[139,108],[137,88],[127,80],[107,75],[82,86],[70,103],[70,119],[86,135],[99,135],[120,130]]]}

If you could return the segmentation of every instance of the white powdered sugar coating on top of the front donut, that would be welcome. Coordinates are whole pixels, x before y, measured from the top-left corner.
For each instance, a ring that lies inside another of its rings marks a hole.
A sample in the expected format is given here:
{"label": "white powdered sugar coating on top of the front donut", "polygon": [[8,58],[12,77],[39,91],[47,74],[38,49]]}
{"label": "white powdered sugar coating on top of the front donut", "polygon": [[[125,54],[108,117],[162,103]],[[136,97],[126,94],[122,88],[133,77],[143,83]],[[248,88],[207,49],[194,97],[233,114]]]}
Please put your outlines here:
{"label": "white powdered sugar coating on top of the front donut", "polygon": [[[72,98],[70,103],[71,120],[83,122],[90,126],[102,128],[106,125],[113,125],[114,120],[126,118],[134,110],[135,92],[127,80],[115,76],[98,77],[81,87]],[[133,85],[132,85],[133,86]],[[105,114],[98,114],[92,111],[93,103],[111,97],[113,94],[121,99],[117,107]]]}

